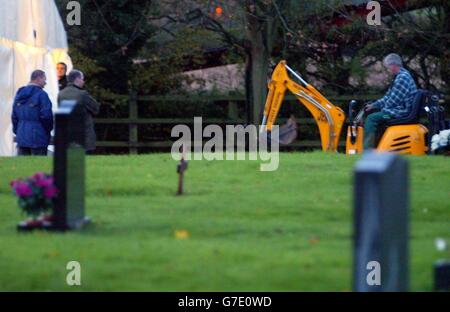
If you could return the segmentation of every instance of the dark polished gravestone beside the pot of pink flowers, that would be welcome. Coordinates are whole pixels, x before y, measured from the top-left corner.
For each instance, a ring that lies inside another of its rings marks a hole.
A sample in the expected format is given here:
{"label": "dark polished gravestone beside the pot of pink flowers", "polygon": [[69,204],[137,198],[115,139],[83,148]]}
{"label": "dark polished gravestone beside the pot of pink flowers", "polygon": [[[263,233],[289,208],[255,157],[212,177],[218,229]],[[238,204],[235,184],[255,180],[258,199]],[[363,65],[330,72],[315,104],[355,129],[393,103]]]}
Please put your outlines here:
{"label": "dark polished gravestone beside the pot of pink flowers", "polygon": [[53,208],[56,230],[81,228],[89,221],[84,212],[85,121],[84,108],[63,101],[55,113],[53,176],[58,196]]}

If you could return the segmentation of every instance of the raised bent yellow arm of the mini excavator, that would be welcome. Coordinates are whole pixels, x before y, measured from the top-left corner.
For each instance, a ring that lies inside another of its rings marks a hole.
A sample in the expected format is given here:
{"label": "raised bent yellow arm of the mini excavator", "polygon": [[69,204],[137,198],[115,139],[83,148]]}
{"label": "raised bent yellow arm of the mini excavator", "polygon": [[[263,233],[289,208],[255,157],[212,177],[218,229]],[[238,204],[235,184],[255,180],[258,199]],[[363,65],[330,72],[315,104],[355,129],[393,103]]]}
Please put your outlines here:
{"label": "raised bent yellow arm of the mini excavator", "polygon": [[[288,73],[295,77],[298,83],[293,81]],[[293,71],[286,61],[281,61],[276,66],[268,87],[269,94],[262,121],[263,130],[267,130],[268,133],[272,131],[286,91],[290,91],[313,115],[319,127],[322,150],[337,151],[339,136],[345,121],[345,113],[341,108],[331,104],[319,91]]]}

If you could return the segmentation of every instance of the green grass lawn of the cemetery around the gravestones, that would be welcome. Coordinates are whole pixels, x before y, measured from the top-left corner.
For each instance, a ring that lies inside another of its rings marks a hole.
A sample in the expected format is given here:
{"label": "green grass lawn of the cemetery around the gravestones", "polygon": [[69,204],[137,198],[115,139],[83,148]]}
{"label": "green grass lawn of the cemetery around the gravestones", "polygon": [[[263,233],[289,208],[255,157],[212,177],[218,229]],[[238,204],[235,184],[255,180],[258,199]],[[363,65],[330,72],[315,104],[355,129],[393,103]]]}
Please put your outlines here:
{"label": "green grass lawn of the cemetery around the gravestones", "polygon": [[[19,234],[9,181],[50,172],[51,159],[0,158],[0,290],[349,291],[357,159],[285,153],[275,172],[191,161],[177,197],[169,154],[89,157],[93,224]],[[434,244],[450,240],[450,160],[409,160],[411,288],[429,291],[433,262],[450,258]],[[81,263],[78,288],[66,285],[71,260]]]}

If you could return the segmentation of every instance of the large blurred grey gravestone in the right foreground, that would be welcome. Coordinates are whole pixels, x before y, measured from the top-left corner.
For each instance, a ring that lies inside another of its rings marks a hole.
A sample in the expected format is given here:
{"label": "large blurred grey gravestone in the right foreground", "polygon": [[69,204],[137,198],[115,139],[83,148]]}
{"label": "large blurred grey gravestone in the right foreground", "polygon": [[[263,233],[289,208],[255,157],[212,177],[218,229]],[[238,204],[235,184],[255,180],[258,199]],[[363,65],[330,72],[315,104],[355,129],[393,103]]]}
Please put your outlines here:
{"label": "large blurred grey gravestone in the right foreground", "polygon": [[369,152],[355,166],[355,291],[408,290],[408,175],[395,154]]}

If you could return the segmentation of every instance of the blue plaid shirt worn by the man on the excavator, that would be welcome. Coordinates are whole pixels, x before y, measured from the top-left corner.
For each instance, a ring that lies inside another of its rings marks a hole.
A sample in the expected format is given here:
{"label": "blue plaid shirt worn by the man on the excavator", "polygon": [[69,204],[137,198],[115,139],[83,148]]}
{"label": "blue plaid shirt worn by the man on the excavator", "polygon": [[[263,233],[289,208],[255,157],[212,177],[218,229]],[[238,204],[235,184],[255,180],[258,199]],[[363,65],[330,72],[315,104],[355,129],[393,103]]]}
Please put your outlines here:
{"label": "blue plaid shirt worn by the man on the excavator", "polygon": [[394,118],[405,117],[411,112],[416,91],[411,74],[402,68],[386,95],[373,103],[374,107]]}

